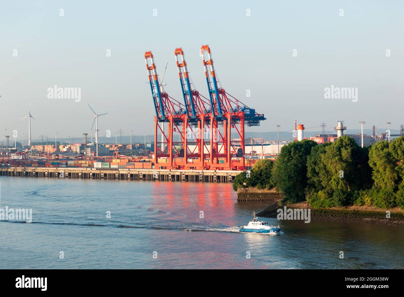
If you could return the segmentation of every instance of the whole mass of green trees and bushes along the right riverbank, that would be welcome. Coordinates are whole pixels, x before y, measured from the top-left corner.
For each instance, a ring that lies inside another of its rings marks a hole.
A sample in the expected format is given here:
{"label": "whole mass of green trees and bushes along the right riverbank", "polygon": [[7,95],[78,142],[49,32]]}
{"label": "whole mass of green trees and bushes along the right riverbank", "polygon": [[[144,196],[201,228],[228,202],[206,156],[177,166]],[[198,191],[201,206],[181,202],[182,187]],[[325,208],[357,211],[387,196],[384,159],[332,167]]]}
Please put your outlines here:
{"label": "whole mass of green trees and bushes along the right riverbank", "polygon": [[314,208],[404,208],[403,160],[403,137],[363,148],[348,136],[324,144],[305,139],[282,147],[276,162],[257,161],[233,187],[276,187],[284,205],[307,200]]}

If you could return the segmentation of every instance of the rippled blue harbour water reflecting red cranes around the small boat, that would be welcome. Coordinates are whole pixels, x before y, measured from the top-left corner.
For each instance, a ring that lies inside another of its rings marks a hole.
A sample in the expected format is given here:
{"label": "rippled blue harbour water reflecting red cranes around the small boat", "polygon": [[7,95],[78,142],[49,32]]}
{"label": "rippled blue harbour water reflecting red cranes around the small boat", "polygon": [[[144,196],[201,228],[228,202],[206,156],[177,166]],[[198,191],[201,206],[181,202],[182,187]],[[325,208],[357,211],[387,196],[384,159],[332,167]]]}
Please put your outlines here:
{"label": "rippled blue harbour water reflecting red cranes around the small boat", "polygon": [[0,221],[2,268],[404,268],[403,226],[265,218],[282,234],[240,233],[270,202],[237,202],[229,183],[0,177],[0,186],[0,208],[32,209],[32,223]]}

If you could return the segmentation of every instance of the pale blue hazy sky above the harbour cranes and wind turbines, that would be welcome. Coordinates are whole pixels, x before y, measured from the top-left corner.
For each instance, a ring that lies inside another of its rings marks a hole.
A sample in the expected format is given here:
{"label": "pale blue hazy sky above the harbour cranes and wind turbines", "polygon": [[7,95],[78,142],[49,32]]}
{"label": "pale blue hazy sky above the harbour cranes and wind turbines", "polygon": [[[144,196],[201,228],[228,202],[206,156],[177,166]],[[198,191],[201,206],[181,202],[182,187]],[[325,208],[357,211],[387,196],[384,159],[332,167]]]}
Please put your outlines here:
{"label": "pale blue hazy sky above the harbour cranes and wind turbines", "polygon": [[[32,121],[33,139],[89,133],[87,104],[109,113],[99,118],[100,135],[120,128],[152,134],[144,52],[153,51],[160,76],[168,62],[165,90],[182,101],[174,49],[183,48],[190,76],[207,97],[202,44],[212,50],[223,88],[267,117],[247,131],[275,131],[276,124],[291,131],[295,119],[306,127],[345,120],[360,128],[358,121],[366,121],[364,128],[382,131],[391,121],[399,129],[403,17],[403,1],[1,0],[0,129],[16,129],[19,138],[27,133],[27,119],[16,120],[32,101],[39,121]],[[80,87],[81,101],[48,99],[54,85]],[[358,88],[358,100],[325,99],[331,85]]]}

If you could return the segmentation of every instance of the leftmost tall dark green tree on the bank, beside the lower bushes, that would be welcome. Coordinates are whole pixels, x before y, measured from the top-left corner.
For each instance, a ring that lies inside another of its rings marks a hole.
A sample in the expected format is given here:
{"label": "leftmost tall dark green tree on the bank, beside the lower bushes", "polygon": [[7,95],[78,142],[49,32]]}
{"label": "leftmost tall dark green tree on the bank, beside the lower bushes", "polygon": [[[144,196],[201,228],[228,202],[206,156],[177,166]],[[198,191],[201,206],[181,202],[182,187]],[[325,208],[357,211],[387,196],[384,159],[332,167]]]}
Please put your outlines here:
{"label": "leftmost tall dark green tree on the bank, beside the lower bushes", "polygon": [[282,147],[272,170],[272,180],[286,203],[305,200],[307,156],[317,144],[312,140],[294,141]]}

